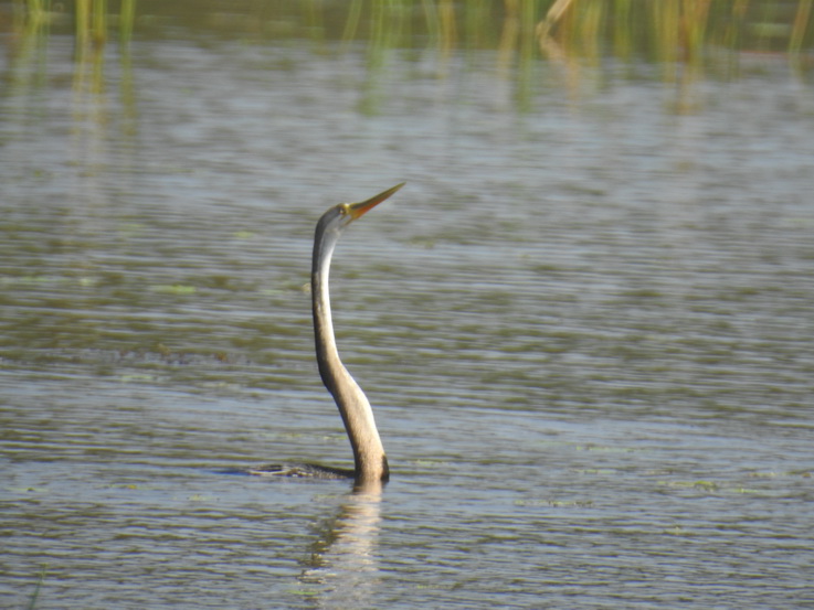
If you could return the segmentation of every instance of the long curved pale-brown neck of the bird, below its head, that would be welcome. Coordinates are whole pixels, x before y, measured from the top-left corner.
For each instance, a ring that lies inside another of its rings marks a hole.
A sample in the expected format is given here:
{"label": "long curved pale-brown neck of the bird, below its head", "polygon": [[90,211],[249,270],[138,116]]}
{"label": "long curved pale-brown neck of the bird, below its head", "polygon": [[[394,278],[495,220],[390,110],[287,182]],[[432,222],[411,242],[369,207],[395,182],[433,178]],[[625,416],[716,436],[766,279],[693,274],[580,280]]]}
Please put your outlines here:
{"label": "long curved pale-brown neck of the bird, below its head", "polygon": [[328,275],[339,234],[317,225],[311,266],[314,334],[319,375],[339,408],[353,448],[357,481],[382,481],[390,475],[384,447],[373,419],[373,409],[359,385],[339,360],[330,315]]}

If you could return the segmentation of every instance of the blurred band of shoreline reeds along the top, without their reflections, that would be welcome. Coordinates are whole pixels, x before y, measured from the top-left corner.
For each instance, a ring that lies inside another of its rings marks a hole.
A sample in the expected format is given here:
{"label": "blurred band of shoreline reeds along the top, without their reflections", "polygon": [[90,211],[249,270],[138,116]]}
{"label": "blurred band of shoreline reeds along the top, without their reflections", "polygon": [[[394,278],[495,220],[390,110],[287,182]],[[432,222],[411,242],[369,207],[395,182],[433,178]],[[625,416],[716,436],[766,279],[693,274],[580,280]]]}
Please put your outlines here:
{"label": "blurred band of shoreline reeds along the top, without their reflections", "polygon": [[[13,0],[19,34],[70,33],[77,52],[181,26],[246,41],[307,38],[387,49],[693,63],[707,49],[811,53],[814,0]],[[8,28],[8,25],[7,25]]]}

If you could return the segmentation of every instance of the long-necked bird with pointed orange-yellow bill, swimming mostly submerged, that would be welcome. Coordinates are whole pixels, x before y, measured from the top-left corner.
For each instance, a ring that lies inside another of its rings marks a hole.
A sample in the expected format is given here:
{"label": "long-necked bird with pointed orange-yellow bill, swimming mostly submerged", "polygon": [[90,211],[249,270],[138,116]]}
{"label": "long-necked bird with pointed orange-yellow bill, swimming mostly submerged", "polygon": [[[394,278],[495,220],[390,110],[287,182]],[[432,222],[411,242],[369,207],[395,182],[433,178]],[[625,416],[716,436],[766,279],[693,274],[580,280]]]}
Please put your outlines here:
{"label": "long-necked bird with pointed orange-yellow bill, swimming mostly submerged", "polygon": [[387,482],[388,458],[379,436],[370,402],[342,364],[334,335],[328,278],[330,261],[345,229],[374,206],[404,186],[404,182],[358,203],[340,203],[330,207],[317,222],[311,258],[311,306],[314,339],[319,376],[334,397],[353,450],[353,470],[317,464],[263,465],[251,474],[307,477],[318,479],[353,479],[357,484]]}

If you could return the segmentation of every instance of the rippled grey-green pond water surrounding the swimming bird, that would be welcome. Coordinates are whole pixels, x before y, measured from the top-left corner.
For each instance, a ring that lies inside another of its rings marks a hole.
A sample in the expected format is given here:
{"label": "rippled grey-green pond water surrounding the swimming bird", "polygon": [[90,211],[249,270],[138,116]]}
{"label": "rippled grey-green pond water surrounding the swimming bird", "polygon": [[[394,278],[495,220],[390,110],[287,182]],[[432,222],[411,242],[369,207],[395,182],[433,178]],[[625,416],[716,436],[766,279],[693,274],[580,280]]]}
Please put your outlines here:
{"label": "rippled grey-green pond water surrounding the swimming bird", "polygon": [[[71,45],[3,64],[4,607],[814,603],[804,74]],[[310,239],[402,180],[332,275],[392,481],[225,474],[349,463]]]}

